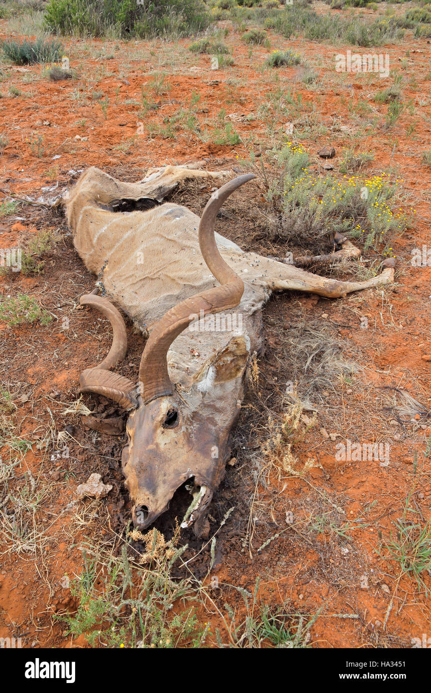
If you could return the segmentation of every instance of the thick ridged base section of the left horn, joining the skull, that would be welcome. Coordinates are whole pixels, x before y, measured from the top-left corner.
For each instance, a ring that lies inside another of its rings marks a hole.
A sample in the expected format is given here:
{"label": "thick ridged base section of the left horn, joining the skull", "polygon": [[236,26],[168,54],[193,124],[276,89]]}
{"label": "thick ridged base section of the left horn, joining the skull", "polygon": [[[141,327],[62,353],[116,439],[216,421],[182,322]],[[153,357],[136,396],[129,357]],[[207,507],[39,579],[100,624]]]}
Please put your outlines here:
{"label": "thick ridged base section of the left horn, joining the skull", "polygon": [[80,376],[80,390],[102,394],[127,410],[138,406],[135,383],[113,371],[101,368],[86,369]]}

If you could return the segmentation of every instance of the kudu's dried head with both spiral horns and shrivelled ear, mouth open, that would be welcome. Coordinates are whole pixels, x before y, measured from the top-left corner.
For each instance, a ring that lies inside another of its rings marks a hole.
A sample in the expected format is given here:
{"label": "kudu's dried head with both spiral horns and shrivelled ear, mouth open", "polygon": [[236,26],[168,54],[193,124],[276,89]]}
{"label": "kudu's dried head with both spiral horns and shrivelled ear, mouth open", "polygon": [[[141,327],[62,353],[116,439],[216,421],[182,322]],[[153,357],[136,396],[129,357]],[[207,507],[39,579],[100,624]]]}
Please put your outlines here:
{"label": "kudu's dried head with both spiral horns and shrivelled ear, mouth open", "polygon": [[107,358],[98,367],[84,371],[80,385],[82,392],[102,394],[131,410],[122,469],[133,503],[134,524],[140,529],[167,509],[185,483],[190,484],[192,499],[183,526],[192,525],[204,516],[223,477],[249,345],[244,336],[233,337],[195,374],[187,392],[177,391],[172,384],[167,353],[196,315],[230,310],[241,301],[244,283],[217,249],[214,222],[228,195],[253,177],[235,178],[208,201],[199,225],[199,245],[219,286],[181,301],[154,326],[140,361],[138,385],[110,370],[127,351],[122,316],[107,299],[97,295],[81,299],[81,304],[95,306],[108,317],[113,328]]}

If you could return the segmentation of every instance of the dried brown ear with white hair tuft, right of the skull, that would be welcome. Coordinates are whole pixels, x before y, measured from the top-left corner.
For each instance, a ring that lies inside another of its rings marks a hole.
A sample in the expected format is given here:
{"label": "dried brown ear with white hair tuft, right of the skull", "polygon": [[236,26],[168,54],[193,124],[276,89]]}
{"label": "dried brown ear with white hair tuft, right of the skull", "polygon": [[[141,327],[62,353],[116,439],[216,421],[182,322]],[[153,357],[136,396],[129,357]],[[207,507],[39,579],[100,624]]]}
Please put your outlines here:
{"label": "dried brown ear with white hair tuft, right of the skull", "polygon": [[212,385],[227,383],[244,373],[248,355],[250,353],[250,340],[240,335],[232,337],[226,347],[217,351],[208,359],[195,374],[193,380],[201,392],[208,392]]}

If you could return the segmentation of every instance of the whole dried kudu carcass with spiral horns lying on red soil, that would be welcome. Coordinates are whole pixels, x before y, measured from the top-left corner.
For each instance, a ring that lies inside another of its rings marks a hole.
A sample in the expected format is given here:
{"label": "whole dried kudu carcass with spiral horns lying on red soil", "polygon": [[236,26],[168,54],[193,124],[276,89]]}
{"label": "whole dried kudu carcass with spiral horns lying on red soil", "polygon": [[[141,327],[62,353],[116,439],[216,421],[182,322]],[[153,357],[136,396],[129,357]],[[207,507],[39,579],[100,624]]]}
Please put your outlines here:
{"label": "whole dried kudu carcass with spiral horns lying on red soil", "polygon": [[[183,526],[203,532],[205,511],[230,459],[228,438],[248,358],[262,349],[262,307],[271,292],[340,297],[394,277],[393,267],[385,267],[369,281],[325,279],[243,252],[214,234],[221,205],[253,174],[214,192],[201,219],[179,204],[162,204],[179,181],[231,175],[167,166],[128,184],[89,168],[64,200],[77,252],[110,299],[90,294],[81,304],[98,308],[113,328],[111,350],[82,373],[80,389],[131,410],[122,470],[140,529],[187,482],[193,498]],[[138,383],[111,371],[127,351],[125,322],[111,300],[149,332]]]}

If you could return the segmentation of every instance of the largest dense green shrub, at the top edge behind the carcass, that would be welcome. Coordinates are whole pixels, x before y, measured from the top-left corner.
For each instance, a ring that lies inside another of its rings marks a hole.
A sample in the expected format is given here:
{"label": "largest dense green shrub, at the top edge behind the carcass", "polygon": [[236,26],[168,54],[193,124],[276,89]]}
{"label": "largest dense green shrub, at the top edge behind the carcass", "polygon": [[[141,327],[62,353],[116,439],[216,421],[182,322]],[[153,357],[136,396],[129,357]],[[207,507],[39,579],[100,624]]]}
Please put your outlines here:
{"label": "largest dense green shrub, at the top edge behind the carcass", "polygon": [[46,27],[59,34],[188,36],[210,26],[202,0],[50,0]]}

